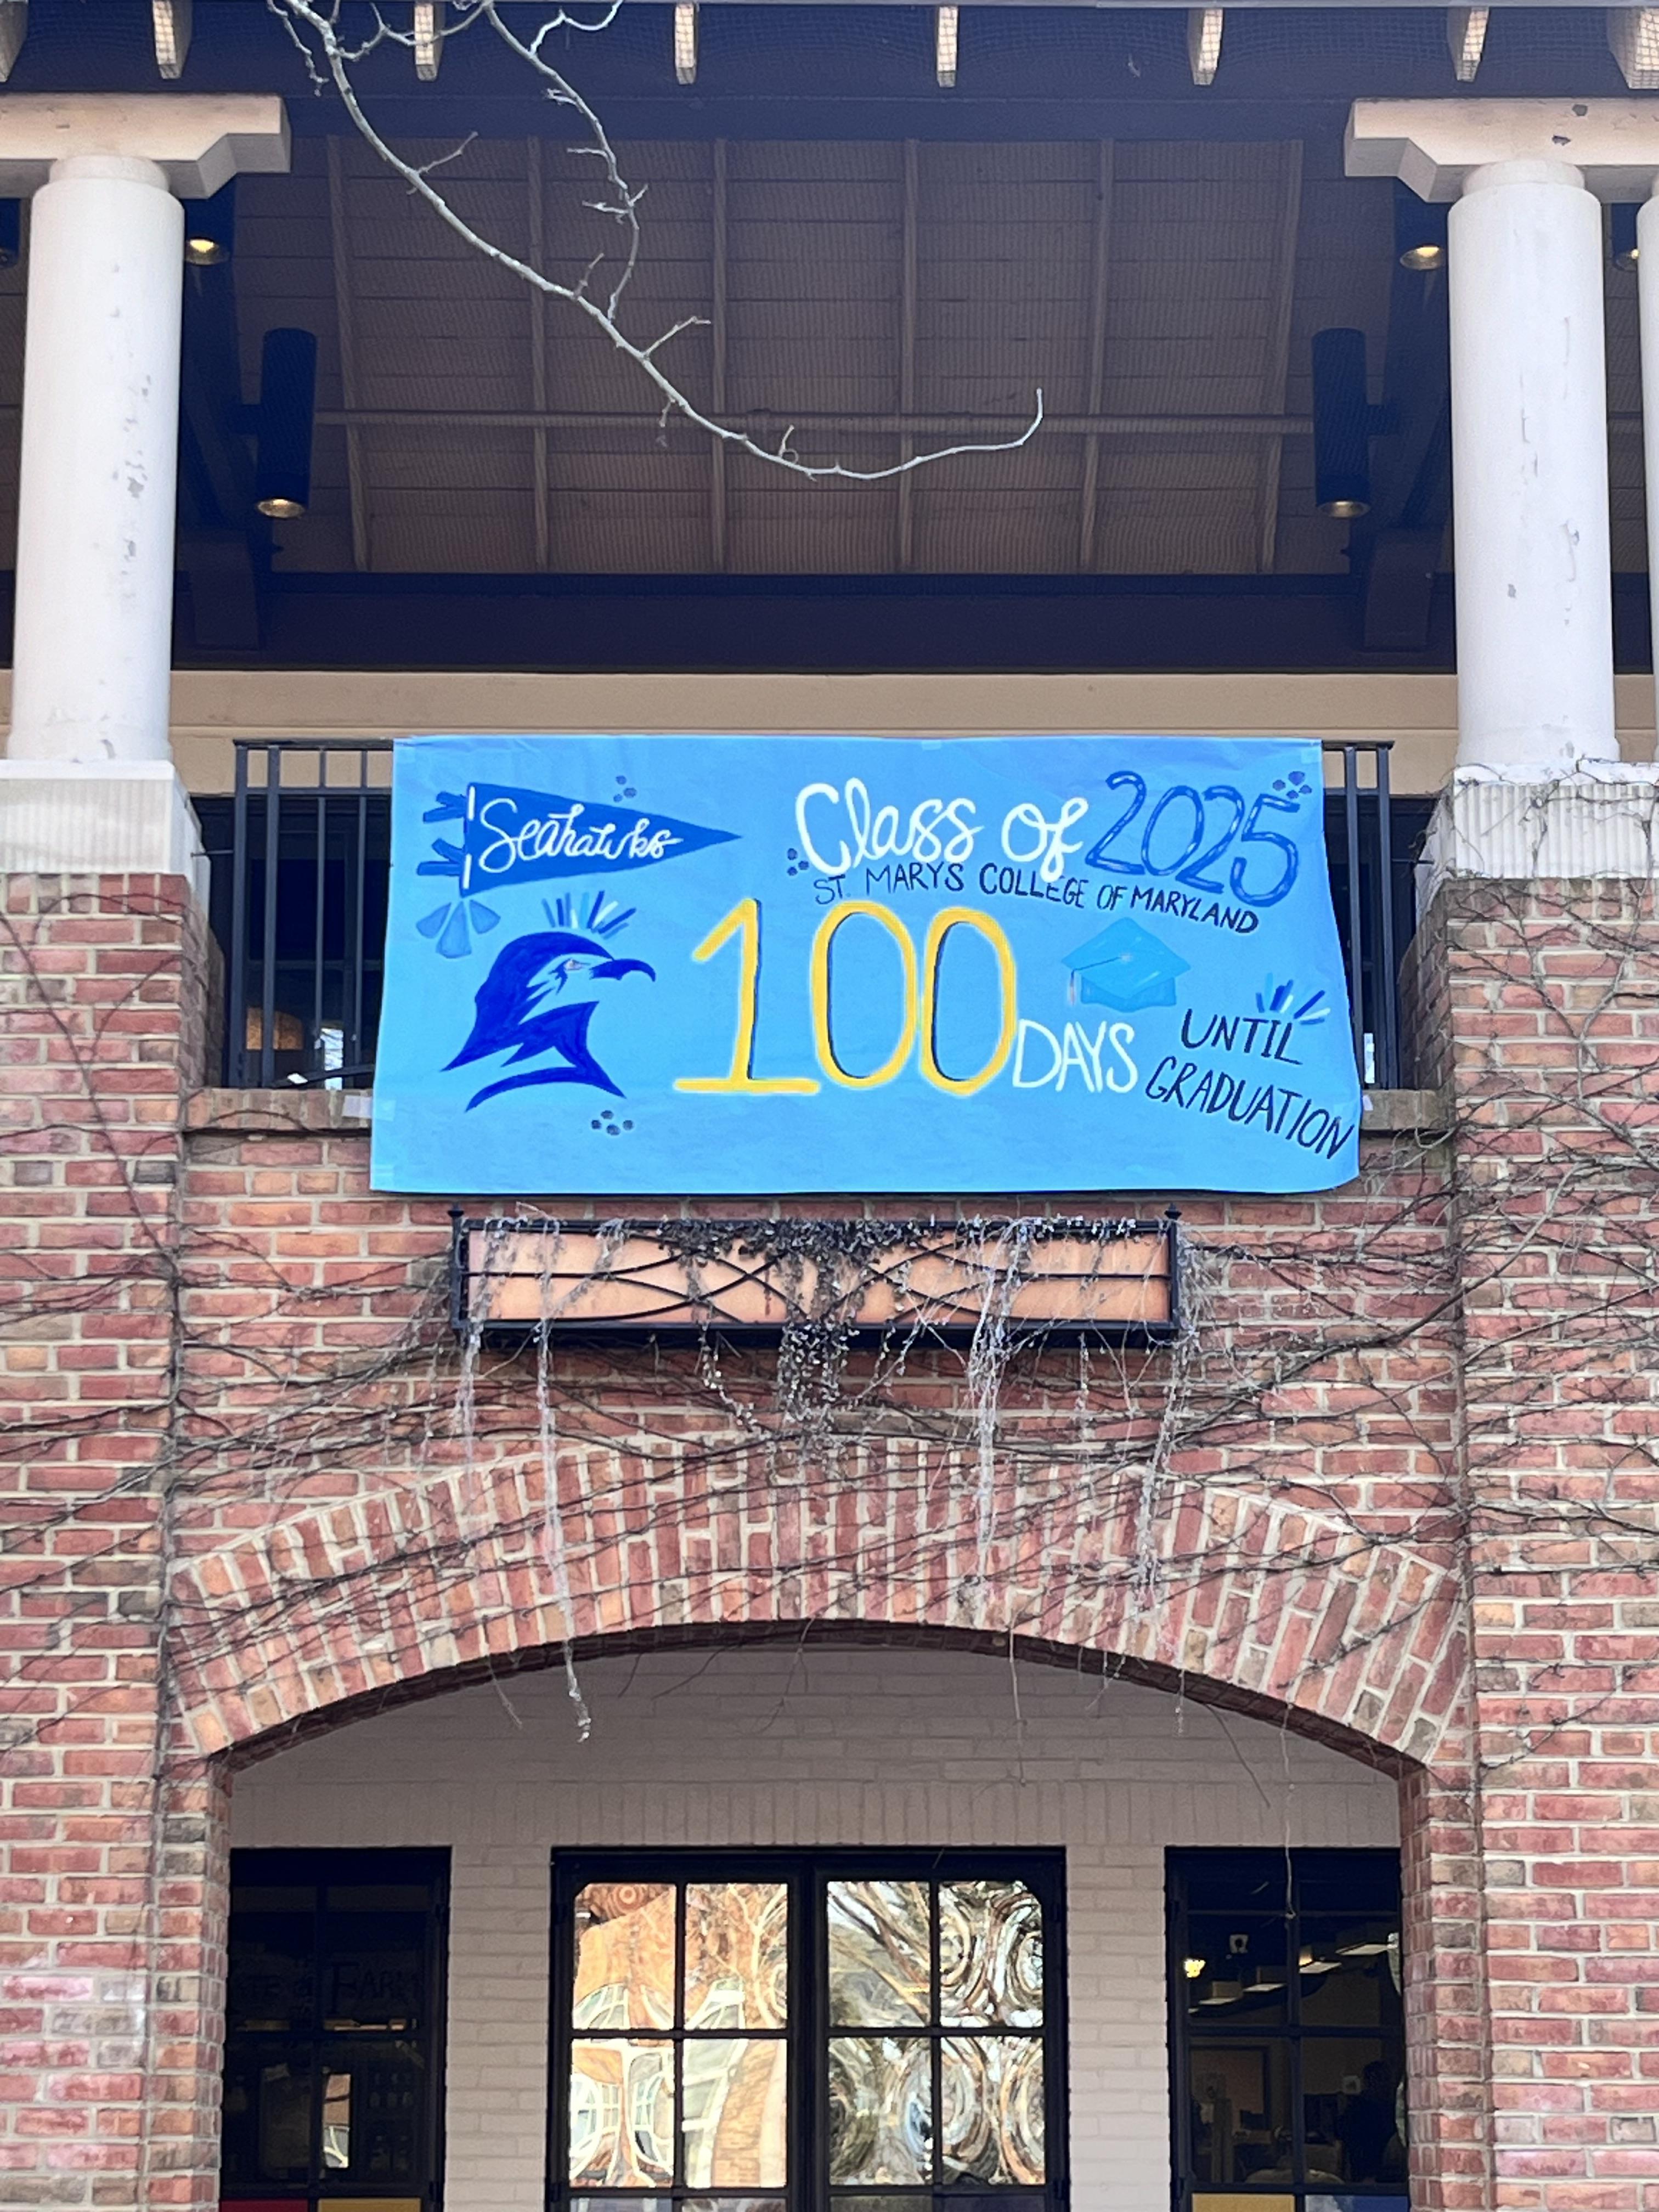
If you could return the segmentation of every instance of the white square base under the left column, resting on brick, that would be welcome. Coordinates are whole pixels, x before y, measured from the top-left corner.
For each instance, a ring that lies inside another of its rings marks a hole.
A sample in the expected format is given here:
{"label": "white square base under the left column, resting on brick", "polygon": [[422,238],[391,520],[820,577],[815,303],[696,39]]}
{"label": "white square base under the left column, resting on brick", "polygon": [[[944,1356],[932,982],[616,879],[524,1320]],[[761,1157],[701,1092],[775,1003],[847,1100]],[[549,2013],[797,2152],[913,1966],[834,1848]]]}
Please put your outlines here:
{"label": "white square base under the left column, resting on brick", "polygon": [[208,856],[173,761],[0,761],[0,872],[188,876]]}

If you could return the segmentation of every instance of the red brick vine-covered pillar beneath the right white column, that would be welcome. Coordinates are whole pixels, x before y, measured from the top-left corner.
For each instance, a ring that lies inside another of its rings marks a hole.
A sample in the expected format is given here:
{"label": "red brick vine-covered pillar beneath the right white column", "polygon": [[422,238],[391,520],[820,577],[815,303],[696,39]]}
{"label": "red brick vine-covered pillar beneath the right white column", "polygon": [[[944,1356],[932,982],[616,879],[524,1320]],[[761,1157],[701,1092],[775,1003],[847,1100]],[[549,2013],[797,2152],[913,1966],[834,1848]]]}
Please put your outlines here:
{"label": "red brick vine-covered pillar beneath the right white column", "polygon": [[[1659,2203],[1659,925],[1436,894],[1462,1276],[1491,2203]],[[1436,1898],[1438,1931],[1458,1922]],[[1436,1942],[1440,1936],[1436,1936]],[[1438,1960],[1436,1960],[1438,1969]],[[1471,2013],[1473,2020],[1473,2013]]]}

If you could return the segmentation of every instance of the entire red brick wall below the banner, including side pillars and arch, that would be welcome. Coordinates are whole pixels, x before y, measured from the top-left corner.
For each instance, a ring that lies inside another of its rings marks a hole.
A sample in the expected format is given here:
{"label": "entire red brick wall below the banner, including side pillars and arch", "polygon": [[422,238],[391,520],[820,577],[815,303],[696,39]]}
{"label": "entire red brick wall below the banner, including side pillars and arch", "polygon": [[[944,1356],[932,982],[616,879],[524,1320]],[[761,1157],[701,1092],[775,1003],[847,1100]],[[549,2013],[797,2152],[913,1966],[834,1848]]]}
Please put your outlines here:
{"label": "entire red brick wall below the banner, including side pillars and arch", "polygon": [[192,1095],[170,889],[11,887],[18,2203],[212,2201],[237,1765],[566,1637],[841,1624],[916,1668],[1082,1655],[1400,1776],[1418,2205],[1655,2212],[1646,905],[1444,894],[1418,1004],[1451,1139],[1183,1201],[1188,1352],[1013,1376],[984,1486],[916,1442],[956,1354],[834,1480],[743,1360],[566,1354],[542,1418],[533,1360],[484,1358],[467,1411],[445,1210],[367,1190],[356,1102]]}

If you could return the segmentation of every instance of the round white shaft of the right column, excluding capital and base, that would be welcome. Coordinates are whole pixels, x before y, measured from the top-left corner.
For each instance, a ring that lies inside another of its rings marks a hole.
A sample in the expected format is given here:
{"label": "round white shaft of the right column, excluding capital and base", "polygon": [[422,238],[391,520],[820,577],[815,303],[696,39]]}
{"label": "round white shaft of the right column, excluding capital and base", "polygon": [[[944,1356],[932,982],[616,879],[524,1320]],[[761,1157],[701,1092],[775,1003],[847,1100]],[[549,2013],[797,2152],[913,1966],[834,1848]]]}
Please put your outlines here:
{"label": "round white shaft of the right column, excluding capital and base", "polygon": [[1601,208],[1568,161],[1473,168],[1451,210],[1458,765],[1617,761]]}

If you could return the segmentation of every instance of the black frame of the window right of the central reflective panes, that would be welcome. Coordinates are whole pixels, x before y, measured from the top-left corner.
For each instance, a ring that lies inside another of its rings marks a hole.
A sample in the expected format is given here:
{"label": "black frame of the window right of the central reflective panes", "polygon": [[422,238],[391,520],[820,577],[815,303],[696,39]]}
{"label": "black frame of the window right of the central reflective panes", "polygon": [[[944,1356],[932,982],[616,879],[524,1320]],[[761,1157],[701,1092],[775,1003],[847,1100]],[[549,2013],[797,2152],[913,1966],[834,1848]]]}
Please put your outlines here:
{"label": "black frame of the window right of the central reflective panes", "polygon": [[[1296,2212],[1307,2212],[1310,2201],[1332,2199],[1347,2203],[1349,2199],[1360,2205],[1389,2205],[1389,2212],[1398,2205],[1400,2212],[1409,2205],[1409,2183],[1378,2183],[1378,2181],[1356,2181],[1340,2190],[1332,2190],[1329,2181],[1307,2179],[1307,2135],[1305,2135],[1305,2088],[1303,2088],[1303,2046],[1310,2042],[1376,2042],[1398,2053],[1400,2073],[1405,2073],[1405,2024],[1400,2024],[1398,2035],[1385,2028],[1354,2028],[1343,2024],[1318,2024],[1303,2022],[1301,2017],[1301,1975],[1285,1975],[1285,2020],[1279,2022],[1214,2022],[1194,2024],[1188,2011],[1186,1991],[1186,1969],[1183,1960],[1190,1953],[1188,1938],[1188,1893],[1186,1882],[1190,1871],[1217,1871],[1228,1860],[1239,1863],[1241,1880],[1245,1878],[1245,1867],[1250,1874],[1259,1871],[1267,1860],[1276,1869],[1283,1869],[1283,1882],[1287,1893],[1285,1911],[1285,1958],[1296,1960],[1301,1955],[1301,1922],[1303,1922],[1303,1882],[1310,1874],[1332,1874],[1343,1863],[1347,1863],[1356,1874],[1391,1874],[1394,1878],[1394,1909],[1400,1896],[1400,1854],[1398,1851],[1374,1851],[1374,1849],[1292,1849],[1292,1851],[1261,1851],[1261,1849],[1172,1849],[1166,1854],[1166,1951],[1168,1951],[1168,2020],[1170,2020],[1170,2201],[1175,2212],[1192,2212],[1194,2199],[1210,2194],[1250,2201],[1261,2199],[1263,2205],[1283,2203],[1290,2199]],[[1241,1907],[1241,1911],[1259,1911],[1256,1907]],[[1314,1907],[1318,1911],[1318,1907]],[[1329,1911],[1325,1911],[1329,1918]],[[1405,1949],[1405,1924],[1400,1916],[1400,1936]],[[1239,2039],[1261,2039],[1276,2042],[1285,2046],[1287,2053],[1287,2095],[1290,2095],[1290,2128],[1294,2137],[1294,2161],[1296,2181],[1274,2181],[1274,2183],[1252,2183],[1252,2181],[1199,2181],[1197,2179],[1197,2157],[1192,2148],[1192,2057],[1199,2051],[1225,2046]]]}

